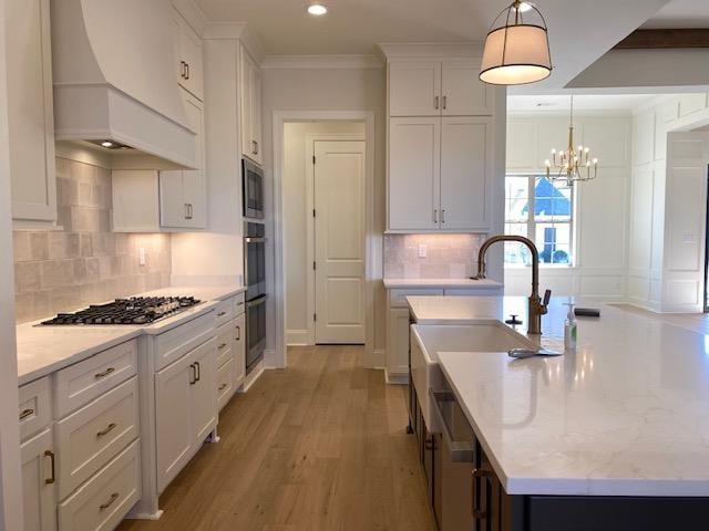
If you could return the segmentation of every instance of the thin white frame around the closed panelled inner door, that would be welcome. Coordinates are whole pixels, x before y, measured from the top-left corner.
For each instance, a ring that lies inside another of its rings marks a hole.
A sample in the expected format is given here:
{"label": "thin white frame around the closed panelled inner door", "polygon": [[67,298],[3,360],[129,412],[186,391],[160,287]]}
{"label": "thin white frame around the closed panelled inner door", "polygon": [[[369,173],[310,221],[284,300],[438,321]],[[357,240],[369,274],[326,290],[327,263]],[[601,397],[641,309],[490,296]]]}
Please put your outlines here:
{"label": "thin white frame around the closed panelled inner door", "polygon": [[[359,122],[359,121],[358,121]],[[311,212],[315,209],[315,164],[312,164],[312,157],[315,156],[315,143],[316,142],[364,142],[364,157],[367,157],[367,136],[358,135],[356,133],[308,133],[306,135],[306,212]],[[367,171],[367,170],[366,170]],[[367,179],[367,175],[364,175]],[[367,185],[364,185],[367,186]],[[367,195],[367,191],[364,191]],[[364,215],[367,215],[368,205],[367,197],[364,197]],[[315,262],[315,217],[309,217],[310,222],[307,223],[308,233],[306,236],[306,263]],[[364,236],[364,260],[367,260],[367,236]],[[316,271],[312,268],[308,268],[308,275],[306,279],[306,311],[308,312],[308,344],[315,345],[315,319],[316,313]]]}

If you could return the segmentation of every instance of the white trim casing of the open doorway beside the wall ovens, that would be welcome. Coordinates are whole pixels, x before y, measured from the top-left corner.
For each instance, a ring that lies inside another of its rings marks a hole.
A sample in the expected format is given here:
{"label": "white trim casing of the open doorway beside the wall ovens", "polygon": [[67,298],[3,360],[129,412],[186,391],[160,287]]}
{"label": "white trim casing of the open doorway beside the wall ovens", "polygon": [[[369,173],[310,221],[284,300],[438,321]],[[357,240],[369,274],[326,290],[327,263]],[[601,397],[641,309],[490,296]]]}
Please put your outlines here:
{"label": "white trim casing of the open doorway beside the wall ovens", "polygon": [[[274,365],[288,365],[286,350],[286,289],[285,270],[286,256],[284,248],[284,195],[282,178],[285,173],[284,127],[288,122],[363,122],[364,123],[364,282],[366,315],[364,315],[364,366],[377,365],[374,360],[374,271],[377,271],[376,226],[374,226],[374,160],[376,136],[374,111],[275,111],[273,117],[274,135],[274,299],[276,306],[276,355]],[[352,135],[350,135],[352,136]],[[307,163],[307,160],[306,160]],[[307,174],[306,174],[307,175]],[[314,246],[315,249],[315,246]],[[315,279],[314,279],[315,281]],[[314,301],[315,305],[315,301]],[[311,317],[311,316],[310,316]],[[312,331],[315,336],[315,330]]]}

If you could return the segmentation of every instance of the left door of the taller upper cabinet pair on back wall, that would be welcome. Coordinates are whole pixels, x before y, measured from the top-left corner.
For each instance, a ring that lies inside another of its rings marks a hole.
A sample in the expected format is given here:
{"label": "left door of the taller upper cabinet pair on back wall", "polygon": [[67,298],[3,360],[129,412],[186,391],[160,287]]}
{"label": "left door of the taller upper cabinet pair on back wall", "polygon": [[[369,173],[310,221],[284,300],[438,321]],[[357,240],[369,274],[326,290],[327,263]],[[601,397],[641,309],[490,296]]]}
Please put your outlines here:
{"label": "left door of the taller upper cabinet pair on back wall", "polygon": [[441,118],[389,121],[390,230],[439,227]]}

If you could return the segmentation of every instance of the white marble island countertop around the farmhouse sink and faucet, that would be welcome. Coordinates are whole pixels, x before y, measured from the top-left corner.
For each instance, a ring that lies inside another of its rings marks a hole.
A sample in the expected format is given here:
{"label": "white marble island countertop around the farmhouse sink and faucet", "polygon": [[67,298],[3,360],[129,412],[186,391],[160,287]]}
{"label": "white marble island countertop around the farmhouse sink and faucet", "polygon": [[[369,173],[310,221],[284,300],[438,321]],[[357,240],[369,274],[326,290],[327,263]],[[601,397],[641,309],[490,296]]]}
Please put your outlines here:
{"label": "white marble island countertop around the farmhouse sink and faucet", "polygon": [[[524,298],[421,299],[410,304],[427,323],[526,321]],[[552,299],[543,343],[559,344],[566,301]],[[559,357],[438,353],[505,490],[709,496],[709,335],[584,305],[602,316],[579,317],[578,346]]]}

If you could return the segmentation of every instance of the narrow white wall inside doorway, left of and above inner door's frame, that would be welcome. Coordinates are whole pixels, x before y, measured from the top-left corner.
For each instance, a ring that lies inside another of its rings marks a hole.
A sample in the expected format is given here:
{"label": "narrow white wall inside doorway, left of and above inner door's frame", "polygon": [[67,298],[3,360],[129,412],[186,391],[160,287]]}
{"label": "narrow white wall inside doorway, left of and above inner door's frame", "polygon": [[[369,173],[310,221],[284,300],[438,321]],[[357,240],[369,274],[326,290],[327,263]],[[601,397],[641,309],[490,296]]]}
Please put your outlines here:
{"label": "narrow white wall inside doorway, left of and above inner door's frame", "polygon": [[308,344],[308,290],[311,267],[308,260],[308,230],[312,216],[307,211],[308,162],[306,143],[311,135],[364,136],[364,123],[322,122],[288,123],[284,132],[284,253],[286,260],[286,341],[288,344]]}

